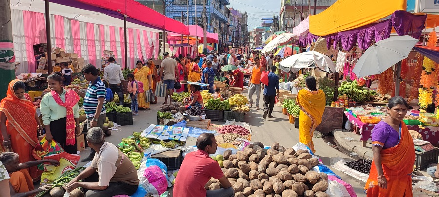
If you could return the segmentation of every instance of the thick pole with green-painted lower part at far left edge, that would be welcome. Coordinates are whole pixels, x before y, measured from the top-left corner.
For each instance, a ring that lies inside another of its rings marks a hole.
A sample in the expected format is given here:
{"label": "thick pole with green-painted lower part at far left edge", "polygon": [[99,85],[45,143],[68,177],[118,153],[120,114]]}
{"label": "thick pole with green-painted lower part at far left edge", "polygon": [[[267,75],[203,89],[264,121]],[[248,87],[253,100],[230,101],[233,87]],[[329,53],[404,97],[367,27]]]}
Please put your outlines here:
{"label": "thick pole with green-painted lower part at far left edge", "polygon": [[[15,54],[14,43],[12,42],[12,19],[10,6],[11,5],[9,4],[8,0],[0,1],[0,10],[2,11],[1,13],[3,13],[0,15],[0,23],[3,24],[0,30],[0,43],[5,45],[5,47],[1,49],[2,53],[0,53],[0,98],[6,97],[8,84],[10,81],[15,79]],[[51,65],[51,62],[49,62],[49,65]]]}

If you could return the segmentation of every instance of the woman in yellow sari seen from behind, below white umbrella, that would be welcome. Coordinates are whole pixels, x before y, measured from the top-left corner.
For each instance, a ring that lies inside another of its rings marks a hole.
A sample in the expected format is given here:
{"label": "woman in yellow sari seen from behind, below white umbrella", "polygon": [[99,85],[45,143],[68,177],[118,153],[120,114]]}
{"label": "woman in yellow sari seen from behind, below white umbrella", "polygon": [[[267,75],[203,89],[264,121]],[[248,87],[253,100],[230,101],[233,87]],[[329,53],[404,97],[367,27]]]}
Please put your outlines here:
{"label": "woman in yellow sari seen from behind, below white umbrella", "polygon": [[317,89],[316,78],[307,76],[306,87],[299,91],[296,103],[300,107],[299,131],[300,142],[307,145],[314,153],[314,129],[321,123],[325,111],[326,96],[323,90]]}

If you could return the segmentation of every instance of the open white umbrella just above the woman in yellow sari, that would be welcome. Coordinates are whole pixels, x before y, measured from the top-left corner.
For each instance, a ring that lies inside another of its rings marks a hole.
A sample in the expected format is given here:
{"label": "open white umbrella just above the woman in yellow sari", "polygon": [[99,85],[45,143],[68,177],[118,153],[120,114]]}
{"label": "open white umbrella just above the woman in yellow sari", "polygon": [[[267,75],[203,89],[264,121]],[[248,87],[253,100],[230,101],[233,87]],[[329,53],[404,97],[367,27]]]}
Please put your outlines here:
{"label": "open white umbrella just above the woman in yellow sari", "polygon": [[284,72],[297,72],[302,68],[317,67],[324,72],[335,72],[335,64],[331,58],[317,51],[307,51],[290,56],[280,62],[280,69]]}

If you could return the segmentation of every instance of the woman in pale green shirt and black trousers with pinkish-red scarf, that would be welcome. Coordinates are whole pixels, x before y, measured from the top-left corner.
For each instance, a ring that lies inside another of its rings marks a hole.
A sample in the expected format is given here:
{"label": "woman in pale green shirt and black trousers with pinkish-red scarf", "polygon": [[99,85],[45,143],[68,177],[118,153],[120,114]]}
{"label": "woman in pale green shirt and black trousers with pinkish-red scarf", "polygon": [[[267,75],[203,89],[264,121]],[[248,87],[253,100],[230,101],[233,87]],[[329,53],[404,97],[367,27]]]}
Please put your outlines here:
{"label": "woman in pale green shirt and black trousers with pinkish-red scarf", "polygon": [[[47,77],[50,93],[41,100],[40,110],[46,129],[46,140],[60,143],[65,152],[76,154],[76,136],[79,130],[78,94],[61,87],[58,73]],[[105,95],[104,95],[105,97]]]}

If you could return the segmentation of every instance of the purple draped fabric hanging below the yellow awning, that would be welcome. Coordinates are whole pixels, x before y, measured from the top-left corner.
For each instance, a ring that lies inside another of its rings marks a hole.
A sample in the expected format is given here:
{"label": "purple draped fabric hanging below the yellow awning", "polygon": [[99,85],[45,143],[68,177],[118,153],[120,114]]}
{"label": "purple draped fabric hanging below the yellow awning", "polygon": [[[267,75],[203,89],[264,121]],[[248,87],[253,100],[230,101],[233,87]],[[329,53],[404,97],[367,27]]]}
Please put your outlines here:
{"label": "purple draped fabric hanging below the yellow awning", "polygon": [[[410,35],[413,38],[419,39],[422,30],[424,29],[427,15],[414,15],[406,11],[395,11],[392,16],[378,23],[372,23],[359,27],[356,29],[338,32],[323,36],[327,40],[328,49],[331,47],[331,41],[334,41],[334,49],[337,49],[337,44],[341,42],[344,50],[350,51],[355,45],[360,49],[367,49],[372,43],[390,37],[392,27],[399,36]],[[299,37],[300,46],[306,46],[317,40],[319,36],[308,33],[307,36]]]}

